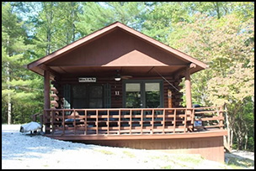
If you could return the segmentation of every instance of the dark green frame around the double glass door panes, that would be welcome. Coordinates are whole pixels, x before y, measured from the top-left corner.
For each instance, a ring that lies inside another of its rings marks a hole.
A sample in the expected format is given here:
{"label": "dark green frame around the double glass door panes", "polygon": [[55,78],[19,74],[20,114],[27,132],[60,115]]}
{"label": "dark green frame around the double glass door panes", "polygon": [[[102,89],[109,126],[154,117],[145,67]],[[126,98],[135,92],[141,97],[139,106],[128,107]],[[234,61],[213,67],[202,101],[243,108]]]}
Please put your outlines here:
{"label": "dark green frame around the double glass door panes", "polygon": [[145,93],[145,83],[159,83],[160,84],[160,107],[163,107],[163,80],[123,80],[122,81],[122,89],[123,89],[123,107],[125,108],[126,104],[126,93],[125,93],[125,84],[126,83],[140,83],[141,86],[141,108],[146,108],[146,93]]}

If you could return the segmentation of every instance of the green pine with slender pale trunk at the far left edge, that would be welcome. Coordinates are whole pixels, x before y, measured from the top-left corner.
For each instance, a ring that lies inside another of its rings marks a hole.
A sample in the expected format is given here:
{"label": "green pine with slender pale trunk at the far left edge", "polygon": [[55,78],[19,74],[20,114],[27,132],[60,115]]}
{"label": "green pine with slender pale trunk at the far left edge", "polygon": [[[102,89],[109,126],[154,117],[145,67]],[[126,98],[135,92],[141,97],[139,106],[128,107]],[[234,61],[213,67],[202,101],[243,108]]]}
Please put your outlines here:
{"label": "green pine with slender pale trunk at the far left edge", "polygon": [[38,105],[39,101],[33,101],[39,93],[34,87],[38,87],[36,84],[41,80],[29,75],[24,68],[29,62],[27,51],[32,46],[24,43],[26,33],[23,23],[13,13],[10,3],[2,3],[2,10],[2,102],[7,104],[3,105],[2,118],[11,124],[20,114],[14,106],[17,104],[26,106],[30,103]]}

